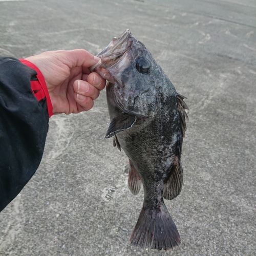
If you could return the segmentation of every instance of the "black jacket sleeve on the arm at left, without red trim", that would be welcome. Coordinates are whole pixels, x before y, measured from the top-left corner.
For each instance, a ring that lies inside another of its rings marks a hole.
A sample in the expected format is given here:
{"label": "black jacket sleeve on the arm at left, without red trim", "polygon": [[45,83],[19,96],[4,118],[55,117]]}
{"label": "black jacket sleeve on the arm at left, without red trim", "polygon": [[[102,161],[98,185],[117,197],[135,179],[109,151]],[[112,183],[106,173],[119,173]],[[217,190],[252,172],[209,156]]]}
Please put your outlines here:
{"label": "black jacket sleeve on the arm at left, without red trim", "polygon": [[49,114],[46,98],[31,89],[37,72],[0,57],[0,211],[34,175],[44,152]]}

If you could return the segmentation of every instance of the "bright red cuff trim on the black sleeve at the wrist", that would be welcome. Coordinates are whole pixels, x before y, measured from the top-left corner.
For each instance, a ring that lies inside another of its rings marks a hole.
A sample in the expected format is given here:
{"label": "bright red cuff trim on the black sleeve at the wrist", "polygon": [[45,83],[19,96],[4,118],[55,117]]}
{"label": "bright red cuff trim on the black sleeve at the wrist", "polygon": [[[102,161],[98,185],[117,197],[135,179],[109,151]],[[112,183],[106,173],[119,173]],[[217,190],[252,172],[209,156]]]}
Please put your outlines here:
{"label": "bright red cuff trim on the black sleeve at the wrist", "polygon": [[48,88],[47,88],[44,76],[42,75],[41,71],[32,62],[26,59],[19,59],[19,60],[23,64],[27,65],[28,67],[30,67],[31,69],[34,69],[37,72],[36,77],[38,81],[31,81],[31,89],[38,101],[46,98],[48,114],[49,114],[49,117],[51,117],[53,115],[53,112],[52,112],[53,107],[52,107],[52,102],[50,99],[50,95],[48,92]]}

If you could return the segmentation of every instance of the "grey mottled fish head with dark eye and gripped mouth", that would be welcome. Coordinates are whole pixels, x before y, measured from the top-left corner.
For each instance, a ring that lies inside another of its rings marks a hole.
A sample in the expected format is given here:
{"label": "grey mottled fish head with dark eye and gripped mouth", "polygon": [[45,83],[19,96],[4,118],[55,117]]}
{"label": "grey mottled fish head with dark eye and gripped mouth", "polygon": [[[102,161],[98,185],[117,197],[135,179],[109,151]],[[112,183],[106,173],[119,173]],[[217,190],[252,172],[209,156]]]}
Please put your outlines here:
{"label": "grey mottled fish head with dark eye and gripped mouth", "polygon": [[97,56],[100,61],[90,70],[102,76],[104,70],[110,73],[108,100],[126,114],[154,116],[164,73],[142,42],[127,29]]}

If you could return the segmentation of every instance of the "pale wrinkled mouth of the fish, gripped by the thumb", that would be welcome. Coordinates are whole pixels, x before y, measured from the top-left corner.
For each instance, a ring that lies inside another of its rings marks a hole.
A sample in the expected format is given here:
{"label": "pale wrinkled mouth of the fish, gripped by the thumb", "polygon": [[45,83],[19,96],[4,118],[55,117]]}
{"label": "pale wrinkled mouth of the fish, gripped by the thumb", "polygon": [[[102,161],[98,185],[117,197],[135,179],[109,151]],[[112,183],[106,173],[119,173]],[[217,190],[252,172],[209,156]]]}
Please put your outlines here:
{"label": "pale wrinkled mouth of the fish, gripped by the thumb", "polygon": [[110,44],[96,55],[100,58],[100,61],[90,67],[90,71],[99,71],[100,69],[108,69],[113,66],[130,49],[133,38],[129,29],[126,29],[118,37],[114,37]]}

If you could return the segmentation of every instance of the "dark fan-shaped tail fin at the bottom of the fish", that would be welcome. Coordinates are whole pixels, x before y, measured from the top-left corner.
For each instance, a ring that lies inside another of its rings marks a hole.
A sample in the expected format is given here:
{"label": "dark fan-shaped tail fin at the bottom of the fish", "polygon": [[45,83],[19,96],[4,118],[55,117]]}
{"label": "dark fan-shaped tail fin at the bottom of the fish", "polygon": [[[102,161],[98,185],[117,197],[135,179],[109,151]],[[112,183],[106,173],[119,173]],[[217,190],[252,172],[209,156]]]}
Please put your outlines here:
{"label": "dark fan-shaped tail fin at the bottom of the fish", "polygon": [[181,243],[179,232],[164,202],[161,202],[160,210],[143,205],[130,242],[134,246],[158,250],[167,250]]}

